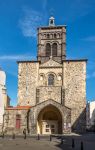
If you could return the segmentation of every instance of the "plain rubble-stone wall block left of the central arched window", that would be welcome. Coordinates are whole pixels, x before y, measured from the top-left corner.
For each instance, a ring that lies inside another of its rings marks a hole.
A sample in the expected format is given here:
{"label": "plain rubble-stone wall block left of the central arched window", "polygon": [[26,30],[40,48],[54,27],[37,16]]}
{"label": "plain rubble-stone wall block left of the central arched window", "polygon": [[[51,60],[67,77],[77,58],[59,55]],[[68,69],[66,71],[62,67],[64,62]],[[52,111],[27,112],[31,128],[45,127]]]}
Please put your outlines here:
{"label": "plain rubble-stone wall block left of the central arched window", "polygon": [[35,105],[39,62],[23,62],[18,66],[18,104]]}

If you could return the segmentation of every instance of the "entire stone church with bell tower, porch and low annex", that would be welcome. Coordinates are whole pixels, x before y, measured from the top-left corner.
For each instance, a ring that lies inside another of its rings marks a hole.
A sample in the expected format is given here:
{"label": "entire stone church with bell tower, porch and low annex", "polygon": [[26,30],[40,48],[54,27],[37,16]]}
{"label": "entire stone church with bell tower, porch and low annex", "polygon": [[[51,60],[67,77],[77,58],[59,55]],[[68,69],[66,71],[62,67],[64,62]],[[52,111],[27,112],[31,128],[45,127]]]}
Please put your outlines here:
{"label": "entire stone church with bell tower, porch and low annex", "polygon": [[66,59],[66,26],[38,28],[37,61],[18,61],[18,105],[4,116],[6,133],[63,134],[86,127],[86,59]]}

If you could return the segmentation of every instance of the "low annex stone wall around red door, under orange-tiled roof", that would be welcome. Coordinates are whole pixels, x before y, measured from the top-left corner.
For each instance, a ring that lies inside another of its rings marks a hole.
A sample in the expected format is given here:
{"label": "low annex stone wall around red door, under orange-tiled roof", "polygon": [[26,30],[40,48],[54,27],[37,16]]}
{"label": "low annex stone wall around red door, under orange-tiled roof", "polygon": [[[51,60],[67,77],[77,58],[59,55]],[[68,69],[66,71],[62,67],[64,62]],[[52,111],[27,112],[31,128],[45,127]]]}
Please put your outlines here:
{"label": "low annex stone wall around red door, under orange-tiled roof", "polygon": [[[27,113],[28,110],[6,110],[4,115],[4,127],[5,134],[23,134],[23,129],[27,129]],[[21,115],[20,129],[16,129],[16,115]]]}

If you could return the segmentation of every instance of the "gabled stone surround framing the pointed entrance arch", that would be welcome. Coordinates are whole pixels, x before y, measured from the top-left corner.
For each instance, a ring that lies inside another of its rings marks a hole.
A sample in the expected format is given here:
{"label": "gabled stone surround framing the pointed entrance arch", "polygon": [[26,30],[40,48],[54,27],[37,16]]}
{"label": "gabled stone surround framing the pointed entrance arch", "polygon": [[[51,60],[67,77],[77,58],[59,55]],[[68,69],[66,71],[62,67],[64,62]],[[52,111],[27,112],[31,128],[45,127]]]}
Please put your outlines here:
{"label": "gabled stone surround framing the pointed entrance arch", "polygon": [[59,104],[58,102],[55,102],[54,100],[47,100],[44,101],[42,103],[39,103],[37,105],[35,105],[34,107],[31,108],[31,114],[30,114],[30,118],[31,118],[31,134],[37,134],[37,122],[38,122],[38,117],[39,114],[41,112],[41,110],[43,110],[45,107],[52,105],[55,108],[58,109],[58,111],[60,112],[61,116],[62,116],[62,133],[66,133],[66,132],[70,132],[71,128],[68,129],[68,131],[64,128],[64,123],[65,122],[69,122],[71,123],[71,109],[65,106],[62,106],[61,104]]}

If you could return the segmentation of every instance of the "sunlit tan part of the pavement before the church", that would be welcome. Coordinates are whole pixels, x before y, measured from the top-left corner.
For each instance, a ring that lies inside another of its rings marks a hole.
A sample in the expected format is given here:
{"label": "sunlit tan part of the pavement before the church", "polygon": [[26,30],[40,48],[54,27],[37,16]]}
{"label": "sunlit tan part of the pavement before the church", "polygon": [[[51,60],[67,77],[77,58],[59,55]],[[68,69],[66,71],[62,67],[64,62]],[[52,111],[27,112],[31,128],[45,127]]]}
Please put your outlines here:
{"label": "sunlit tan part of the pavement before the church", "polygon": [[4,138],[0,139],[0,150],[60,150],[57,145],[59,140],[49,141],[48,139],[36,140],[34,138]]}

